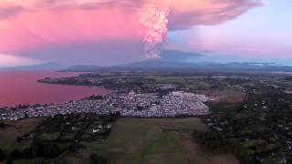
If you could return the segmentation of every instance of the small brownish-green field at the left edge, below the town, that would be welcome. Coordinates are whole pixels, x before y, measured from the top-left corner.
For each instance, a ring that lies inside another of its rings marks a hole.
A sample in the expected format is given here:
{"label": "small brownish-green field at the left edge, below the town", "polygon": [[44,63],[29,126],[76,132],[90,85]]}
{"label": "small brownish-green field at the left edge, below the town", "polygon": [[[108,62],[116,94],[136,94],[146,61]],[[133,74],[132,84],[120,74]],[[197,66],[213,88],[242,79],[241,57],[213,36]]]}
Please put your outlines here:
{"label": "small brownish-green field at the left edge, below the town", "polygon": [[27,118],[18,121],[5,121],[6,128],[0,128],[0,148],[5,152],[14,149],[25,149],[30,145],[28,141],[17,142],[17,137],[22,137],[26,133],[36,128],[45,118]]}

